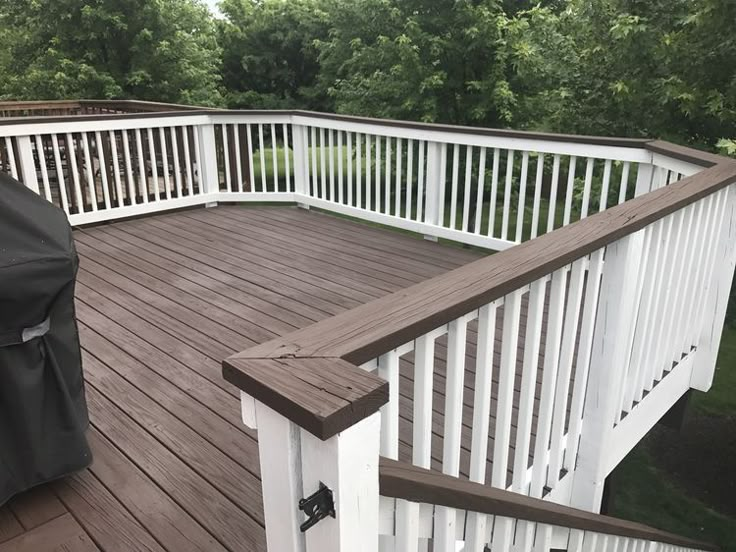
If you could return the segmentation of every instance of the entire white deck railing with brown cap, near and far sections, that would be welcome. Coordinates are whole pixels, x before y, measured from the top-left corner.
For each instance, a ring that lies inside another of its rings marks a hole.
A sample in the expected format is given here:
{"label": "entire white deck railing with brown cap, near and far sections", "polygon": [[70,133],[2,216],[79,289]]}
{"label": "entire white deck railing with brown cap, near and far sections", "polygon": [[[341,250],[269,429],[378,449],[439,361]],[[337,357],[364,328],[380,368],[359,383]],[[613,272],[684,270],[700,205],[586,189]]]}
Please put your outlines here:
{"label": "entire white deck railing with brown cap, near and far sections", "polygon": [[[723,158],[308,112],[15,118],[0,138],[5,169],[72,224],[296,202],[503,250],[225,362],[259,428],[272,550],[374,550],[379,512],[420,523],[418,503],[379,500],[379,455],[597,511],[621,458],[710,387],[736,264]],[[294,505],[320,483],[337,520],[305,540]],[[463,516],[466,550],[518,534]],[[458,519],[432,510],[435,550]],[[398,537],[384,545],[416,549]]]}

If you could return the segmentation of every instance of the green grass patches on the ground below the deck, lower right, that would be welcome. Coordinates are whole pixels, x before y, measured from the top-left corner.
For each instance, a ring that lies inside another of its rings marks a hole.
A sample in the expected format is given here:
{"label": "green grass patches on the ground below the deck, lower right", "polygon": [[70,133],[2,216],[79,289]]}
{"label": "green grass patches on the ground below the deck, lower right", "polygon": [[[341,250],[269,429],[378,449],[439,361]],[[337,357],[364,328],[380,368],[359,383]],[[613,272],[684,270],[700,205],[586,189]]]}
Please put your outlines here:
{"label": "green grass patches on the ground below the deck, lower right", "polygon": [[[713,388],[695,394],[692,413],[736,417],[736,328],[724,331],[717,366]],[[736,552],[736,518],[688,495],[659,467],[646,441],[616,469],[614,496],[612,515],[711,542],[722,552]]]}

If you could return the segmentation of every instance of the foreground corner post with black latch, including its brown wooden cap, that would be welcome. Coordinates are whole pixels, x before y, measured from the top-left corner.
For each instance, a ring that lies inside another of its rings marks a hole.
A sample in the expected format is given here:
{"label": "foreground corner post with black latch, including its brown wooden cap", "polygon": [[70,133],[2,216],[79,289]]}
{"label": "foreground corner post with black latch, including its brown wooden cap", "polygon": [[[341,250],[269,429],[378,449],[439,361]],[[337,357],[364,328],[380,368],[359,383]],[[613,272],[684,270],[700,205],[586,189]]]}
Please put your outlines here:
{"label": "foreground corner post with black latch, including its brown wooden cap", "polygon": [[[378,550],[379,409],[388,384],[338,358],[235,355],[223,374],[241,389],[244,423],[258,430],[268,550]],[[312,523],[313,508],[301,500],[332,515]]]}

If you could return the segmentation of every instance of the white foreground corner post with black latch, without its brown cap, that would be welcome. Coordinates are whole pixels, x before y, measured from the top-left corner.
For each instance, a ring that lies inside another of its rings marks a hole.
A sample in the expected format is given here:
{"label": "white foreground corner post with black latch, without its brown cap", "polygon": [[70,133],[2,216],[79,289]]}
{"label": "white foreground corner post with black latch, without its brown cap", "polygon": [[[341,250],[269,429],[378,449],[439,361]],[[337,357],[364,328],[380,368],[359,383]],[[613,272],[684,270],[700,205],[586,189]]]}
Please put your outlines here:
{"label": "white foreground corner post with black latch, without its brown cap", "polygon": [[[323,441],[246,393],[241,400],[243,421],[258,429],[269,552],[378,550],[380,413]],[[299,501],[321,484],[336,515],[302,531]]]}

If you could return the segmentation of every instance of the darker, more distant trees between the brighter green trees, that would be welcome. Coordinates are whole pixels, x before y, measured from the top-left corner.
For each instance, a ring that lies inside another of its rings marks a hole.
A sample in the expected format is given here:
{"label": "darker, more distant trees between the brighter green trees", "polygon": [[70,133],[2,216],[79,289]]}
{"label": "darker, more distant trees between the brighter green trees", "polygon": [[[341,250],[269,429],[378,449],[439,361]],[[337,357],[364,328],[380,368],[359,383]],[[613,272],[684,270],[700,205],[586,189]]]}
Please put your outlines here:
{"label": "darker, more distant trees between the brighter green trees", "polygon": [[315,41],[329,30],[321,1],[224,0],[220,10],[230,107],[331,109],[329,98],[314,88],[320,70]]}

